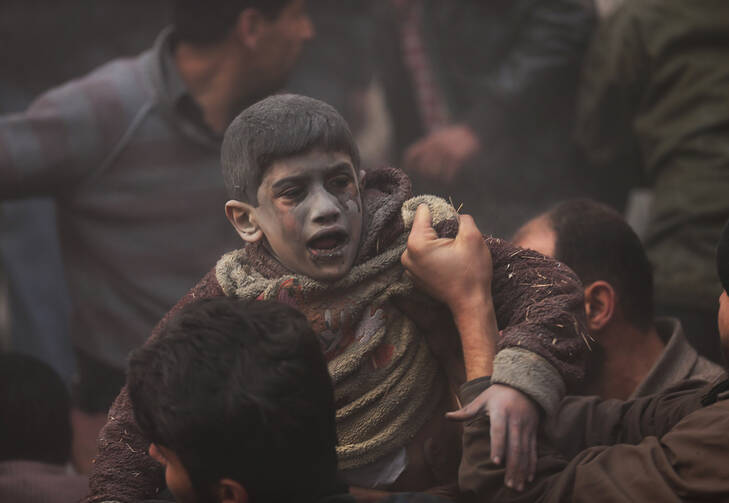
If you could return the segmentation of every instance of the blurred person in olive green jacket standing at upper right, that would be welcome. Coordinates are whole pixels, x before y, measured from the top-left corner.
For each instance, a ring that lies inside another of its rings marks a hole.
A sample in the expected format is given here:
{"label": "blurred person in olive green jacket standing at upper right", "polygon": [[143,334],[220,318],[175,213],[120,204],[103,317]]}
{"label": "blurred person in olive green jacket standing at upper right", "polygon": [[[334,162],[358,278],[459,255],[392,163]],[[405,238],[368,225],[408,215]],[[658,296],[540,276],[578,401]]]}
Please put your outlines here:
{"label": "blurred person in olive green jacket standing at upper right", "polygon": [[[652,189],[641,237],[656,310],[679,318],[715,362],[714,246],[729,218],[727,53],[724,0],[623,2],[586,56],[576,127],[585,171],[603,194],[621,193],[618,184]],[[621,208],[624,197],[607,202]]]}

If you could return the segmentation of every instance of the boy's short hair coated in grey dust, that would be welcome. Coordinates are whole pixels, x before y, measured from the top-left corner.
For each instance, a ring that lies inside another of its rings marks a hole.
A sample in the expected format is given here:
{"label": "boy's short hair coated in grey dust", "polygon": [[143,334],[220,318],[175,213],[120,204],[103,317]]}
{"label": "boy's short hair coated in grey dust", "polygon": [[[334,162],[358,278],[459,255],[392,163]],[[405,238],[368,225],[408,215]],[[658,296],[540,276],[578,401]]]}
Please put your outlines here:
{"label": "boy's short hair coated in grey dust", "polygon": [[342,152],[359,169],[359,150],[331,105],[296,94],[269,96],[241,112],[223,139],[221,164],[228,196],[258,204],[256,192],[272,163],[314,149]]}

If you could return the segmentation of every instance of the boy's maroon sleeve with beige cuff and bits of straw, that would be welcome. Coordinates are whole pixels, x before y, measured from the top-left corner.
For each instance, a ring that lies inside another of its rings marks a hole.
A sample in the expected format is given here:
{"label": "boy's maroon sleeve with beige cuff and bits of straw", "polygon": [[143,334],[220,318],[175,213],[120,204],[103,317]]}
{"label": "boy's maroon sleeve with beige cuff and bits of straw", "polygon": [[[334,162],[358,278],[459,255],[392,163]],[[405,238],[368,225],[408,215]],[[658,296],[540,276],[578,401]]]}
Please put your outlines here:
{"label": "boy's maroon sleeve with beige cuff and bits of straw", "polygon": [[493,382],[519,389],[551,415],[584,374],[582,284],[556,260],[495,238],[487,243],[500,329]]}

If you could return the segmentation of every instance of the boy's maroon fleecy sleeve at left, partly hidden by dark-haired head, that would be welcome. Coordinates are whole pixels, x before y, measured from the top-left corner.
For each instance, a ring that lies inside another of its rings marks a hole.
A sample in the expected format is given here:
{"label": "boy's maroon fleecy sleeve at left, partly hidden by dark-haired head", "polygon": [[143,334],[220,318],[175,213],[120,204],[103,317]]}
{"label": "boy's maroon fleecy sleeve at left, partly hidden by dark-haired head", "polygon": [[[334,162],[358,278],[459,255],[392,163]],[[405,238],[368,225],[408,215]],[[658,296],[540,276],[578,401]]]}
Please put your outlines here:
{"label": "boy's maroon fleecy sleeve at left, partly hidden by dark-haired head", "polygon": [[[168,321],[190,302],[223,295],[213,269],[162,318],[145,344],[160,337]],[[85,502],[136,503],[154,499],[164,489],[164,469],[147,453],[149,441],[134,419],[126,386],[109,409],[97,449]]]}

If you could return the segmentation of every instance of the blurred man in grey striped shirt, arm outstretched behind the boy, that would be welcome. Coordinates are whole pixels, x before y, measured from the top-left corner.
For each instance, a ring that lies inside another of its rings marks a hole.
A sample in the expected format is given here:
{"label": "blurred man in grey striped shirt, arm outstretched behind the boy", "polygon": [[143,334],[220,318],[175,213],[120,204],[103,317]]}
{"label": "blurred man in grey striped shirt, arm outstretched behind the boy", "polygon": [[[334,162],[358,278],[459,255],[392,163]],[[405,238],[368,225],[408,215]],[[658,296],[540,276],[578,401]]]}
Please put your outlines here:
{"label": "blurred man in grey striped shirt, arm outstretched behind the boy", "polygon": [[57,203],[81,470],[128,352],[236,245],[220,213],[223,131],[286,82],[313,35],[303,0],[177,0],[174,28],[151,50],[0,118],[0,200]]}

